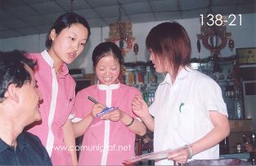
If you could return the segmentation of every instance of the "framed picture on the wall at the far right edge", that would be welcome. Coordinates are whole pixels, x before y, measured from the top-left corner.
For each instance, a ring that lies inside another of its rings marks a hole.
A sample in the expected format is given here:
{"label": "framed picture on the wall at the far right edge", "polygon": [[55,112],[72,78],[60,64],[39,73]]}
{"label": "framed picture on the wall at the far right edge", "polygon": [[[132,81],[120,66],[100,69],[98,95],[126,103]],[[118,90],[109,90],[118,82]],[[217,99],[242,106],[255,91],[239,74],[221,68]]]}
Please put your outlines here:
{"label": "framed picture on the wall at the far right edge", "polygon": [[236,48],[240,64],[256,64],[256,47]]}

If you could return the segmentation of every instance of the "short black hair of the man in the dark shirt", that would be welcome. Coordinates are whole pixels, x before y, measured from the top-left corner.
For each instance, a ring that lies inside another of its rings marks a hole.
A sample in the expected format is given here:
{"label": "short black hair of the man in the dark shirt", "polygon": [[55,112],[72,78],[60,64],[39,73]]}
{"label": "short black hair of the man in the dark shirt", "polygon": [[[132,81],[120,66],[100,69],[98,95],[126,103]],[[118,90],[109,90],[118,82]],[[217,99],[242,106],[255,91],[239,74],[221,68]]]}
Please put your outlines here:
{"label": "short black hair of the man in the dark shirt", "polygon": [[31,81],[25,65],[34,70],[36,62],[28,59],[25,54],[26,52],[18,50],[0,52],[0,102],[4,100],[4,94],[11,83],[16,84],[16,87],[22,87],[25,81]]}

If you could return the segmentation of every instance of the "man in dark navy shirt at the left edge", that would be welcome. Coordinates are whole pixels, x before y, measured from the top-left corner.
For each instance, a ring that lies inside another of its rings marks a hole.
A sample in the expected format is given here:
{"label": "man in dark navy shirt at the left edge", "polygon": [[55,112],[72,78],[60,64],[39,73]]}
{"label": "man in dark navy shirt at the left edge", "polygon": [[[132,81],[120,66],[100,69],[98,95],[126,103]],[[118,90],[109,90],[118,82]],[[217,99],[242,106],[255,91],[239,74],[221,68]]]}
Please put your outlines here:
{"label": "man in dark navy shirt at the left edge", "polygon": [[0,165],[52,165],[38,137],[24,128],[41,119],[35,62],[25,52],[0,52]]}

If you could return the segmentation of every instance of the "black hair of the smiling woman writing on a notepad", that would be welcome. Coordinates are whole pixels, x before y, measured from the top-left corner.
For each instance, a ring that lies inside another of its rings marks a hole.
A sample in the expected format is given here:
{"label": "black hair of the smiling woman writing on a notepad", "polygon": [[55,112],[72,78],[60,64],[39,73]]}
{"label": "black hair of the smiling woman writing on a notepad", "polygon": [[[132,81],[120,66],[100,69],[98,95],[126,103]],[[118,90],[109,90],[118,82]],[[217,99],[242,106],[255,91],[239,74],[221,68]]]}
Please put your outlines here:
{"label": "black hair of the smiling woman writing on a notepad", "polygon": [[100,43],[97,47],[94,48],[92,52],[92,62],[93,66],[96,67],[97,63],[101,60],[102,57],[108,56],[107,53],[112,53],[115,58],[118,59],[119,65],[122,65],[124,62],[124,58],[122,56],[122,52],[119,47],[115,43],[105,42]]}

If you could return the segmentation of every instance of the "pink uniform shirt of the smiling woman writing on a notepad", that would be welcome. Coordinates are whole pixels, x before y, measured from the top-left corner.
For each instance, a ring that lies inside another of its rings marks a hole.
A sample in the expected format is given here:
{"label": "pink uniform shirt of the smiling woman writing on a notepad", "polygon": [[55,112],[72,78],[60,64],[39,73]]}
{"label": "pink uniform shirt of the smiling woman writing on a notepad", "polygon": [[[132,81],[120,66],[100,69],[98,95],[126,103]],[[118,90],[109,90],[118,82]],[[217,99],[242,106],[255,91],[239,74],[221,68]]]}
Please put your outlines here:
{"label": "pink uniform shirt of the smiling woman writing on a notepad", "polygon": [[[119,107],[125,113],[132,113],[132,99],[141,96],[134,87],[118,83],[110,86],[97,84],[80,91],[74,104],[76,121],[92,112],[92,101],[88,96],[107,106]],[[122,122],[100,120],[91,123],[83,135],[83,144],[79,155],[79,165],[121,165],[124,159],[134,156],[135,134]]]}

